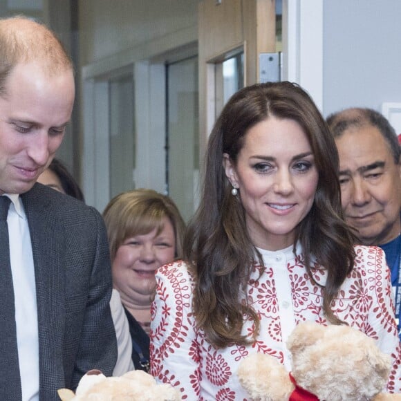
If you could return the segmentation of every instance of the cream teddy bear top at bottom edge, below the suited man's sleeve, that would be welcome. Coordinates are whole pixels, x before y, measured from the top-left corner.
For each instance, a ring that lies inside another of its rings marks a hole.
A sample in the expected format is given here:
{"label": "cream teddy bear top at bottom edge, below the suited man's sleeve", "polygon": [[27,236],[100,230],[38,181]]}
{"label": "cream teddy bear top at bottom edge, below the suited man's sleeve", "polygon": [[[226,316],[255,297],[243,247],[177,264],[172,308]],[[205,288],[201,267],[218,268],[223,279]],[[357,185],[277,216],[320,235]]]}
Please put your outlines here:
{"label": "cream teddy bear top at bottom edge, below the suited man's sleeve", "polygon": [[75,394],[69,389],[57,391],[62,401],[180,401],[180,391],[169,384],[158,384],[144,371],[130,371],[120,377],[106,377],[97,370],[88,371],[78,383]]}

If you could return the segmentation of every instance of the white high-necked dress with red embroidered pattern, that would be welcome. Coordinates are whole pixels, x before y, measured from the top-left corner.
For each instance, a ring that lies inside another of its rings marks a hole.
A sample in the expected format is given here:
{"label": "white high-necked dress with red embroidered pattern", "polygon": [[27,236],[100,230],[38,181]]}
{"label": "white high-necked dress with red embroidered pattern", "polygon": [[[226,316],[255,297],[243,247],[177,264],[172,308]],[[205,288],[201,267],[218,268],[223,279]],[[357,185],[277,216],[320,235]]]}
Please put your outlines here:
{"label": "white high-necked dress with red embroidered pattern", "polygon": [[[196,328],[192,314],[194,280],[183,261],[162,266],[152,305],[151,374],[158,382],[180,389],[183,400],[246,400],[236,370],[249,353],[274,355],[290,371],[286,339],[301,321],[329,324],[322,309],[322,292],[308,278],[297,246],[282,251],[259,250],[265,268],[259,277],[255,267],[248,286],[248,299],[257,311],[261,330],[250,346],[233,344],[216,349]],[[384,252],[375,247],[355,247],[353,272],[344,282],[333,310],[350,326],[376,340],[377,346],[391,355],[387,391],[401,392],[401,349],[393,313],[390,272]],[[318,266],[316,266],[318,267]],[[313,269],[317,283],[325,283],[325,272]],[[243,333],[251,333],[252,323],[245,321]],[[341,344],[339,344],[341,346]]]}

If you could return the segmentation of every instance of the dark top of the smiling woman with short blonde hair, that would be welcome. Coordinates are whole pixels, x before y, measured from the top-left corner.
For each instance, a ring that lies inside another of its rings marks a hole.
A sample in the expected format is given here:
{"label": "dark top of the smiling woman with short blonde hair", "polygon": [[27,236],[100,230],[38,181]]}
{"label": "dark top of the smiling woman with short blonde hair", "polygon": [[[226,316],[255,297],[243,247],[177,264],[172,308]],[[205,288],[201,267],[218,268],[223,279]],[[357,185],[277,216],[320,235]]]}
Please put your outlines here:
{"label": "dark top of the smiling woman with short blonde hair", "polygon": [[124,308],[129,324],[129,333],[132,339],[132,362],[136,370],[149,373],[149,335],[144,331],[138,321]]}

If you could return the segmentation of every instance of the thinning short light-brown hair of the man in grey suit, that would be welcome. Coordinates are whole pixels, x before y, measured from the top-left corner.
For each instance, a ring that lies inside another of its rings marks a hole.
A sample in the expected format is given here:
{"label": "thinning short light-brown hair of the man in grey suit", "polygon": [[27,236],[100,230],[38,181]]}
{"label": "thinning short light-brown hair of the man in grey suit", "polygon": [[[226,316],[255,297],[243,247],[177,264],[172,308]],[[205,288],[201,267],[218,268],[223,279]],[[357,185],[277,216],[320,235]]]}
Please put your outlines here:
{"label": "thinning short light-brown hair of the man in grey suit", "polygon": [[0,19],[0,95],[12,69],[29,62],[39,62],[49,75],[73,71],[62,42],[44,24],[24,16]]}

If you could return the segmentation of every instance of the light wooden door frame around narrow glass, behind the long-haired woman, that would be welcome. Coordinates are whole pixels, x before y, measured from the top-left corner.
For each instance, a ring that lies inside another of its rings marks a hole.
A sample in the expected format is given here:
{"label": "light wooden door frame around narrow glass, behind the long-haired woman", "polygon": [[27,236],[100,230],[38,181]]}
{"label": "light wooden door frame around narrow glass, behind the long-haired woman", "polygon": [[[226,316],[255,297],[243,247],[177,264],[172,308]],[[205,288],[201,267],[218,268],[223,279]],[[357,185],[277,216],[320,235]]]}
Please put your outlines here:
{"label": "light wooden door frame around narrow glass, behind the long-haired woman", "polygon": [[233,50],[244,53],[244,85],[258,82],[259,53],[275,51],[274,0],[204,0],[198,6],[199,148],[205,154],[216,119],[214,74],[216,62]]}

